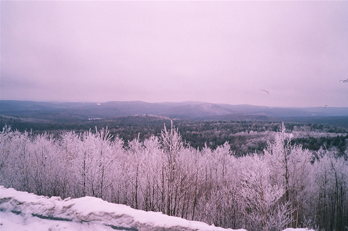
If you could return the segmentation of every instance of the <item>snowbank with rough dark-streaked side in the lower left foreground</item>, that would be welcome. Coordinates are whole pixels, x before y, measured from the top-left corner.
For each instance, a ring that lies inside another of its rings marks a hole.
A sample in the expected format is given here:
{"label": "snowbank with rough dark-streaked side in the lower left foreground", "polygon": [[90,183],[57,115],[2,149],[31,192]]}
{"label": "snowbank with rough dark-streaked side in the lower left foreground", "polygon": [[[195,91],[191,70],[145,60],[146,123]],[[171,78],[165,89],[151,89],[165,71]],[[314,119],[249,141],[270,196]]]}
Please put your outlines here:
{"label": "snowbank with rough dark-streaked side in the lower left foreground", "polygon": [[[0,186],[0,230],[223,231],[231,229],[166,216],[160,212],[136,210],[126,205],[108,203],[100,198],[86,196],[62,200],[58,197],[36,196]],[[305,229],[296,229],[300,230]]]}

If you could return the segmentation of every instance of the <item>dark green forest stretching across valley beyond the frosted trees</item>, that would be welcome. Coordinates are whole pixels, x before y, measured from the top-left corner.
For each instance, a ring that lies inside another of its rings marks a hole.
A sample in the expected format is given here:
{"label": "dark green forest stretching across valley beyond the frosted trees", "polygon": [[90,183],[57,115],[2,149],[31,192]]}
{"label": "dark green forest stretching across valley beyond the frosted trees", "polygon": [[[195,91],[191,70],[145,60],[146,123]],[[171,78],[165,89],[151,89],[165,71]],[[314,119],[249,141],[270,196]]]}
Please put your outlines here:
{"label": "dark green forest stretching across valley beyond the frosted trees", "polygon": [[[339,121],[339,120],[338,120]],[[0,115],[0,127],[10,125],[13,130],[33,131],[36,134],[49,132],[59,136],[63,130],[87,132],[92,128],[108,128],[113,137],[120,137],[124,146],[137,139],[143,142],[152,135],[159,137],[164,126],[169,126],[171,119],[154,115],[118,117],[113,119],[90,118],[62,119],[62,121],[45,121],[24,117],[8,117]],[[236,121],[236,120],[173,120],[179,129],[184,143],[192,148],[202,150],[205,146],[215,149],[228,142],[235,155],[262,153],[269,140],[274,139],[281,121]],[[319,148],[337,151],[345,155],[348,148],[348,128],[327,123],[285,122],[287,132],[292,133],[292,144],[301,144],[310,151]]]}

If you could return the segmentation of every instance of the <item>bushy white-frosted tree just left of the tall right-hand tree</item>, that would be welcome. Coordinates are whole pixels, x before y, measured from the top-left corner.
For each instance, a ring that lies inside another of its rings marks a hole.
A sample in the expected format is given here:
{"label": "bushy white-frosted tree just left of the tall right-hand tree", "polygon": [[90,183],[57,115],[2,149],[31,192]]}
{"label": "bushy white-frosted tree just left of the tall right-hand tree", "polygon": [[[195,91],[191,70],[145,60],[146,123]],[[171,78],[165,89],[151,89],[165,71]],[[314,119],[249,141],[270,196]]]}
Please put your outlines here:
{"label": "bushy white-frosted tree just left of the tall right-hand tree", "polygon": [[283,230],[291,221],[292,213],[283,185],[271,180],[271,169],[263,157],[246,157],[242,170],[241,196],[244,199],[244,216],[248,230]]}

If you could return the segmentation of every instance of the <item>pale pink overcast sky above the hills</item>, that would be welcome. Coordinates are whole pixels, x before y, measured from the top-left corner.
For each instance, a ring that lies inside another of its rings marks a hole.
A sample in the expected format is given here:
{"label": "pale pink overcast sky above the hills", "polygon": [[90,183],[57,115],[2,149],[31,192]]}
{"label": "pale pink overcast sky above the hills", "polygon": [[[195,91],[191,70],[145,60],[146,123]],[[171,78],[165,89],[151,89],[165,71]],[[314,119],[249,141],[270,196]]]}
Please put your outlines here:
{"label": "pale pink overcast sky above the hills", "polygon": [[348,1],[1,1],[3,100],[348,107],[347,78]]}

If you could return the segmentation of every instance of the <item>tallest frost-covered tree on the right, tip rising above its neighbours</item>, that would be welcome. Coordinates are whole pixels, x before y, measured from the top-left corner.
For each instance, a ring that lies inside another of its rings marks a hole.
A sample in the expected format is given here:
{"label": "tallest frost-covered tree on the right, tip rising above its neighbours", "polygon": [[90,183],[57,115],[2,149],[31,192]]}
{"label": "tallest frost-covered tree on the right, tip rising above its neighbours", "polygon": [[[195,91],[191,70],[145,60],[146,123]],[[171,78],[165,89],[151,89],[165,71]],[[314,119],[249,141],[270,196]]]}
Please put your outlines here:
{"label": "tallest frost-covered tree on the right, tip rising above its neighbours", "polygon": [[264,150],[264,161],[269,166],[272,184],[285,190],[283,202],[293,211],[291,227],[297,228],[305,221],[306,201],[310,198],[311,164],[313,155],[301,146],[291,145],[291,134],[285,132],[284,124],[274,141]]}

